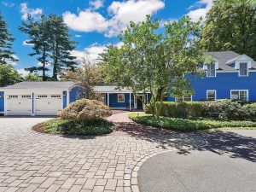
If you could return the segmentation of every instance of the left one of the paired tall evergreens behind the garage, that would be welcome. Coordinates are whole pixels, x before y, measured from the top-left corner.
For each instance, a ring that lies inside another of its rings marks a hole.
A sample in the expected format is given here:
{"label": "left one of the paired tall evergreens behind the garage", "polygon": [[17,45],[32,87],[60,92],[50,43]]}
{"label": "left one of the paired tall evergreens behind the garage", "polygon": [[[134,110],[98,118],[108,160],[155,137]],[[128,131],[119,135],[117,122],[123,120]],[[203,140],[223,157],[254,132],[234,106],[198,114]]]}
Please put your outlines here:
{"label": "left one of the paired tall evergreens behind the garage", "polygon": [[[47,80],[46,72],[49,68],[46,64],[49,57],[49,25],[48,20],[42,15],[40,21],[32,20],[32,17],[28,16],[28,22],[23,21],[20,26],[20,31],[28,34],[28,40],[26,44],[32,44],[33,53],[30,56],[38,55],[38,61],[42,63],[42,67],[36,67],[37,71],[42,71],[43,80]],[[35,67],[32,67],[32,70]],[[29,69],[28,69],[29,70]]]}

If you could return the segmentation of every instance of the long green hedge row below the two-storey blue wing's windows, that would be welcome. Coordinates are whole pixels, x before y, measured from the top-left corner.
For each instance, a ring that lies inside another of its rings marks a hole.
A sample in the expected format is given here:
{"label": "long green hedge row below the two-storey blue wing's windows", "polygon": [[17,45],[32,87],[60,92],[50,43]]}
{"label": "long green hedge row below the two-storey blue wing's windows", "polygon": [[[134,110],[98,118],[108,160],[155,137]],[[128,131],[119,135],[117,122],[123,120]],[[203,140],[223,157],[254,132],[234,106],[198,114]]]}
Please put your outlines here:
{"label": "long green hedge row below the two-storey blue wing's windows", "polygon": [[[225,119],[256,121],[256,103],[245,104],[231,100],[213,102],[160,102],[156,103],[157,114],[183,119]],[[145,108],[150,113],[150,108]]]}

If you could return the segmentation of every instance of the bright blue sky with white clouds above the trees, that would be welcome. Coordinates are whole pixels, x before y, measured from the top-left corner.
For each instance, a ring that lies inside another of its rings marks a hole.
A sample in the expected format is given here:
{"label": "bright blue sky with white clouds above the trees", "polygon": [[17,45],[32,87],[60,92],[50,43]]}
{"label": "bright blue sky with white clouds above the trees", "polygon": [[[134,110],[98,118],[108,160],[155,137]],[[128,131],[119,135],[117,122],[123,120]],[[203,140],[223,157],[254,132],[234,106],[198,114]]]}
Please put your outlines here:
{"label": "bright blue sky with white clouds above the trees", "polygon": [[91,60],[101,53],[106,44],[120,44],[117,35],[130,20],[141,21],[145,15],[162,20],[177,20],[189,15],[193,20],[205,16],[212,0],[1,0],[0,11],[15,37],[14,51],[19,58],[12,63],[20,73],[24,67],[37,66],[36,57],[27,54],[32,47],[26,44],[27,36],[18,30],[27,14],[35,19],[41,14],[62,15],[77,41],[73,55],[88,55]]}

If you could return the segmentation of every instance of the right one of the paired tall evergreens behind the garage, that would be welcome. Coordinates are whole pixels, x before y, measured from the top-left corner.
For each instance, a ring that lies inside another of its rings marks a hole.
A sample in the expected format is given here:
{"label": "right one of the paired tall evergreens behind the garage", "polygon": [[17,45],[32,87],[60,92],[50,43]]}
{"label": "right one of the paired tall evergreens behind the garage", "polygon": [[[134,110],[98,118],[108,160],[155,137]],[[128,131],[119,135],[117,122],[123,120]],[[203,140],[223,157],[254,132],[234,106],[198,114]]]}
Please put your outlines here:
{"label": "right one of the paired tall evergreens behind the garage", "polygon": [[57,75],[62,69],[73,71],[76,68],[75,57],[71,55],[75,42],[71,40],[68,27],[61,16],[49,15],[48,21],[50,57],[53,62],[52,79],[57,80]]}

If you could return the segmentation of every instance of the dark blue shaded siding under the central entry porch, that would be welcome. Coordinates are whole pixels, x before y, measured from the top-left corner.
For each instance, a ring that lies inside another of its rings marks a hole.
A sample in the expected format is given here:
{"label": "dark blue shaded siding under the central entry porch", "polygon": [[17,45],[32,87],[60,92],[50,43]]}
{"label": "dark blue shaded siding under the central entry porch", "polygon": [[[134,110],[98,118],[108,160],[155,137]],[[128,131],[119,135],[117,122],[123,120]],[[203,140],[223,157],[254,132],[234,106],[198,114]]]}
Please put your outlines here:
{"label": "dark blue shaded siding under the central entry porch", "polygon": [[[118,94],[113,93],[109,94],[109,107],[110,108],[126,108],[127,104],[129,103],[130,94],[125,93],[125,102],[118,102]],[[134,97],[131,94],[131,107],[134,106]]]}

